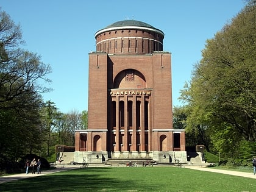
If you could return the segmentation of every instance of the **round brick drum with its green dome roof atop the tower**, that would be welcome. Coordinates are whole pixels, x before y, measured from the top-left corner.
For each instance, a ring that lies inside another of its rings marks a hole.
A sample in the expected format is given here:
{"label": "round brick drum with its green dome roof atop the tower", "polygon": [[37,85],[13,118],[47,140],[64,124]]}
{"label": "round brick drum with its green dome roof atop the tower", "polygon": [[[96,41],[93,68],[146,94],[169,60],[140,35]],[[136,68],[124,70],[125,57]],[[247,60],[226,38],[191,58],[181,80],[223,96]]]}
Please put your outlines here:
{"label": "round brick drum with its green dome roof atop the tower", "polygon": [[118,21],[95,34],[96,51],[107,54],[151,54],[163,51],[162,30],[136,21]]}

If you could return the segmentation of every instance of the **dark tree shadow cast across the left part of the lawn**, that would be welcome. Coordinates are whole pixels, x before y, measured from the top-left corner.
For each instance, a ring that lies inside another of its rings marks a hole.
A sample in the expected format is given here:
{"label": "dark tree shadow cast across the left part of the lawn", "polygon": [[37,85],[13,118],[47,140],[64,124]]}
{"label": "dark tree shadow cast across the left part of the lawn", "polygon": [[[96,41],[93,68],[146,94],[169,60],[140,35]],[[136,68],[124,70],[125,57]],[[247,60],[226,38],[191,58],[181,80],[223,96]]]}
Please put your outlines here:
{"label": "dark tree shadow cast across the left part of the lawn", "polygon": [[[107,177],[107,168],[76,169],[0,184],[0,191],[135,191],[135,183]],[[156,188],[145,186],[145,191]]]}

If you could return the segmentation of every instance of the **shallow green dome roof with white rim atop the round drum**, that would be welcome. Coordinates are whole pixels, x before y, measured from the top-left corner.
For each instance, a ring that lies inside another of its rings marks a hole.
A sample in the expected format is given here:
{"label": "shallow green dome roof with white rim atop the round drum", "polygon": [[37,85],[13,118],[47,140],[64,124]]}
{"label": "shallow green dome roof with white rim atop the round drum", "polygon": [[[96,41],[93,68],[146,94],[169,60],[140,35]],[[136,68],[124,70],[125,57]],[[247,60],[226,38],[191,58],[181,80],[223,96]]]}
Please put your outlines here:
{"label": "shallow green dome roof with white rim atop the round drum", "polygon": [[162,32],[162,30],[159,30],[159,29],[151,26],[148,23],[144,23],[142,21],[137,21],[137,20],[123,20],[123,21],[117,21],[101,30],[98,30],[98,32],[95,33],[95,37],[97,37],[99,34],[107,32],[107,31],[122,30],[122,29],[149,30],[149,31],[155,32],[157,34],[163,35],[163,37],[165,36],[165,34]]}

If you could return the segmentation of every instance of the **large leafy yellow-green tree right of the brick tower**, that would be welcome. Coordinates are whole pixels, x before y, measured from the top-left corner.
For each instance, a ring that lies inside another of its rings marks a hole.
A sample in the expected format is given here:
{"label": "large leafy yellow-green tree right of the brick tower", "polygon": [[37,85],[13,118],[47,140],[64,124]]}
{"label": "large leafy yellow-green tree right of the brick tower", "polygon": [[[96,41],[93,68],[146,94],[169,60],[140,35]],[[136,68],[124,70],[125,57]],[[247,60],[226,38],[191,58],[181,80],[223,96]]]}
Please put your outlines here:
{"label": "large leafy yellow-green tree right of the brick tower", "polygon": [[249,1],[207,40],[202,60],[182,90],[190,124],[204,127],[215,149],[226,153],[237,151],[244,141],[256,141],[255,4]]}

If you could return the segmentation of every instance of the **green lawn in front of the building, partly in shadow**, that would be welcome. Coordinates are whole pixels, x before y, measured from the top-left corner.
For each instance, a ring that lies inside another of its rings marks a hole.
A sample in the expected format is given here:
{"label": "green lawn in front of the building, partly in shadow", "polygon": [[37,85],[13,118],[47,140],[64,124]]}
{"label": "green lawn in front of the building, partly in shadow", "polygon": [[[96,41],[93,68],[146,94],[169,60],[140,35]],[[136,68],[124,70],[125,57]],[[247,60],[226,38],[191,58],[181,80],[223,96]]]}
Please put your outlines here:
{"label": "green lawn in front of the building, partly in shadow", "polygon": [[174,167],[87,168],[2,183],[0,191],[256,191],[256,182]]}

